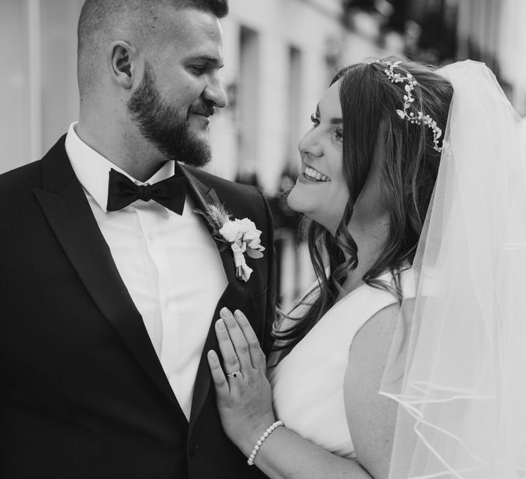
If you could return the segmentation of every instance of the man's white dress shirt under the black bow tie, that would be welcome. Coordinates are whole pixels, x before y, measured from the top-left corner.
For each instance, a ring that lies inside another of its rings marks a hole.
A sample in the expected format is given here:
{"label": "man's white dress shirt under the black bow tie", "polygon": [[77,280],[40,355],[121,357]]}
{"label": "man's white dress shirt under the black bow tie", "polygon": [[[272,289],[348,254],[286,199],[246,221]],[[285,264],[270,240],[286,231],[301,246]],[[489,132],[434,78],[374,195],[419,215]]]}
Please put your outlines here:
{"label": "man's white dress shirt under the black bow tie", "polygon": [[218,249],[188,195],[182,216],[153,200],[106,211],[111,168],[151,185],[171,177],[174,164],[167,161],[149,180],[137,181],[85,144],[76,125],[69,127],[66,152],[188,419],[201,352],[227,286]]}

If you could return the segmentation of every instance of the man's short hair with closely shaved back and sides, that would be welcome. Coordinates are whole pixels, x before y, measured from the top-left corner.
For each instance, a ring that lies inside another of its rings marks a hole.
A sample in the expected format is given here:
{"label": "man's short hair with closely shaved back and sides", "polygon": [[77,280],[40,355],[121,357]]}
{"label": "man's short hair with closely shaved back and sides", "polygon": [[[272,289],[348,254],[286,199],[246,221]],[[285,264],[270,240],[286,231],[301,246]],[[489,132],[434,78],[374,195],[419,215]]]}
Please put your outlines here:
{"label": "man's short hair with closely shaved back and sides", "polygon": [[159,8],[199,10],[217,18],[228,14],[228,0],[86,0],[77,28],[77,76],[81,99],[90,83],[97,61],[97,45],[105,32],[134,19],[140,23],[154,19]]}

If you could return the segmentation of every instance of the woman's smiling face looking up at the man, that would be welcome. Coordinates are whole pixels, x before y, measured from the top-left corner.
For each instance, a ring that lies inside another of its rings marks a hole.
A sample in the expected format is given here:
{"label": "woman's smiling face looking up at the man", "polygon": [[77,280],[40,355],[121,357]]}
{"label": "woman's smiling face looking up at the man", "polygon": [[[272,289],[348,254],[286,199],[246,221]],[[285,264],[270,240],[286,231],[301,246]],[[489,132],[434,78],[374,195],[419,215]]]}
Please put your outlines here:
{"label": "woman's smiling face looking up at the man", "polygon": [[325,226],[332,233],[349,201],[342,173],[342,107],[340,81],[323,94],[312,128],[298,144],[301,172],[288,195],[288,205],[295,211]]}

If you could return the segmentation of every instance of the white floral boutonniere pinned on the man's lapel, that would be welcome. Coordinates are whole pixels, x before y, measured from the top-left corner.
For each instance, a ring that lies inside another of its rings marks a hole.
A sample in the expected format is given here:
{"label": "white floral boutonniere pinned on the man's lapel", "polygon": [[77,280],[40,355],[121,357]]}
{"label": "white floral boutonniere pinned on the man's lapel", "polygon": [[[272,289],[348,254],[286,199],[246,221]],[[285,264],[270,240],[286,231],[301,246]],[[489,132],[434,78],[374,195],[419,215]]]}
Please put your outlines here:
{"label": "white floral boutonniere pinned on the man's lapel", "polygon": [[[256,229],[255,224],[249,218],[242,220],[231,220],[228,211],[223,205],[208,205],[208,211],[195,209],[195,213],[204,216],[212,228],[212,237],[223,243],[226,248],[230,246],[234,254],[236,265],[236,277],[243,281],[249,281],[252,268],[245,261],[245,253],[249,257],[258,259],[263,257],[265,248],[261,246],[261,231]],[[220,250],[222,250],[220,248]]]}

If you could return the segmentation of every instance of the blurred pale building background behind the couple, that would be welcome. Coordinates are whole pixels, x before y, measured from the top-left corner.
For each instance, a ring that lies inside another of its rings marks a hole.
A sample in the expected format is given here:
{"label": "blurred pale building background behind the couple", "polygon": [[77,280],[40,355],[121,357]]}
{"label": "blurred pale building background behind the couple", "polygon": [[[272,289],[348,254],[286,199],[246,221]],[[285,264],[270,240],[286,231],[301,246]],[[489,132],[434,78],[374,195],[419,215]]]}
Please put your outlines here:
{"label": "blurred pale building background behind the couple", "polygon": [[[0,0],[0,172],[42,157],[78,114],[83,0]],[[223,21],[229,106],[214,116],[209,170],[259,185],[276,222],[284,307],[312,281],[283,193],[296,145],[340,66],[386,53],[486,62],[526,114],[525,0],[230,0]]]}

